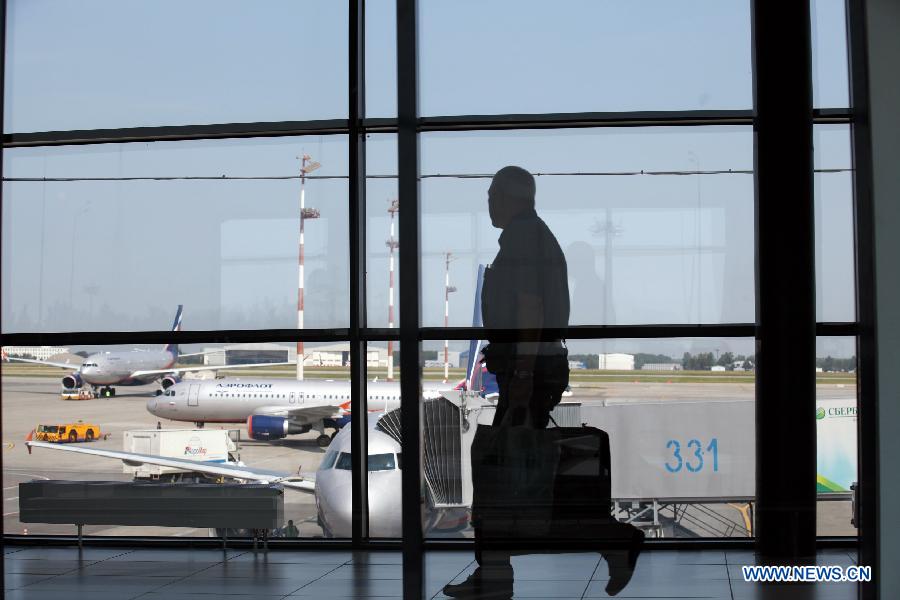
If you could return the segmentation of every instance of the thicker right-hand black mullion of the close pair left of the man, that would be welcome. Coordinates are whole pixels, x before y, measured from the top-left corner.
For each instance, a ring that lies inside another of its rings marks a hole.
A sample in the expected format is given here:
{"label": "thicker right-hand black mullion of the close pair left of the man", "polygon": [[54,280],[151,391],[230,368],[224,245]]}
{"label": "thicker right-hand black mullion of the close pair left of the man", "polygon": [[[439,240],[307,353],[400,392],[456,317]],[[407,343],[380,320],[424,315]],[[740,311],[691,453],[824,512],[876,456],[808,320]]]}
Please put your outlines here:
{"label": "thicker right-hand black mullion of the close pair left of the man", "polygon": [[418,339],[419,290],[419,136],[416,0],[397,0],[397,173],[400,198],[400,430],[403,448],[403,598],[419,600],[425,591],[422,531],[422,344]]}

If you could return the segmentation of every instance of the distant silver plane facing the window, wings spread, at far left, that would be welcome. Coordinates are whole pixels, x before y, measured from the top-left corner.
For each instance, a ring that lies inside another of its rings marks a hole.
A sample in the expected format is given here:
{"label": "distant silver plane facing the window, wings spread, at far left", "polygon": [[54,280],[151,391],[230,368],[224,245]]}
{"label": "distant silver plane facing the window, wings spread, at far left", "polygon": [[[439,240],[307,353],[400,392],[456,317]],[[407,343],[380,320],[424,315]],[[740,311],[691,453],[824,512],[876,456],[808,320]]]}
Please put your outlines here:
{"label": "distant silver plane facing the window, wings spread, at far left", "polygon": [[[172,331],[181,331],[181,318],[184,305],[178,305],[175,313],[175,321],[172,323]],[[181,381],[183,373],[196,371],[219,371],[224,369],[247,369],[254,367],[271,367],[293,363],[252,363],[244,365],[224,366],[192,366],[174,367],[175,362],[183,356],[196,356],[202,353],[179,354],[177,344],[166,344],[161,350],[126,350],[115,352],[97,352],[91,354],[80,367],[62,378],[62,385],[67,389],[80,388],[88,384],[94,392],[100,387],[100,395],[115,396],[114,385],[132,386],[145,385],[153,381],[160,381],[160,386],[166,390]],[[8,357],[4,354],[4,360],[35,363],[71,369],[73,365],[46,360],[34,360],[29,358]]]}

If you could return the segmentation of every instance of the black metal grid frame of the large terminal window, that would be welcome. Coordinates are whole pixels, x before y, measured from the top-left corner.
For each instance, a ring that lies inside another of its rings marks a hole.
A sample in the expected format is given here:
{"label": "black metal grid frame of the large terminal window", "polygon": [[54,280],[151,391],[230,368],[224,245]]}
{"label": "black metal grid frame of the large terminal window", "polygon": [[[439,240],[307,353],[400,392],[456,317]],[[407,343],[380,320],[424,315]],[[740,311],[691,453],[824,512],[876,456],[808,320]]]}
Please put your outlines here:
{"label": "black metal grid frame of the large terminal window", "polygon": [[[398,9],[398,116],[396,118],[366,118],[365,116],[365,1],[348,0],[350,35],[349,62],[347,76],[349,78],[349,118],[336,120],[313,121],[280,121],[261,123],[222,123],[211,125],[180,125],[160,127],[137,127],[121,129],[97,129],[79,131],[38,131],[29,133],[3,134],[2,150],[21,147],[51,147],[95,145],[105,143],[130,143],[153,141],[182,141],[210,139],[239,139],[258,137],[298,137],[304,135],[346,135],[349,140],[349,246],[350,246],[350,326],[331,329],[258,329],[258,330],[208,330],[208,331],[114,331],[114,332],[55,332],[55,333],[11,333],[3,335],[4,345],[115,345],[115,344],[194,344],[194,343],[240,343],[240,342],[337,342],[350,341],[351,361],[351,412],[353,435],[351,436],[351,453],[353,455],[353,535],[348,544],[354,548],[383,547],[384,542],[372,540],[368,535],[367,507],[367,462],[366,452],[366,344],[370,341],[399,341],[403,348],[421,349],[421,342],[432,340],[468,340],[473,336],[490,335],[497,338],[517,339],[529,332],[488,331],[471,327],[454,327],[449,329],[422,327],[419,320],[420,310],[420,278],[419,278],[419,244],[421,234],[420,207],[417,202],[408,202],[399,216],[400,236],[410,240],[400,246],[400,281],[399,298],[403,306],[399,327],[368,327],[366,320],[366,161],[365,139],[370,133],[393,133],[398,136],[398,177],[401,197],[418,200],[418,136],[430,131],[485,131],[485,130],[520,130],[520,129],[564,129],[564,128],[603,128],[603,127],[653,127],[653,126],[708,126],[708,125],[747,125],[754,128],[759,121],[754,110],[734,111],[650,111],[650,112],[616,112],[616,113],[555,113],[555,114],[507,114],[507,115],[463,115],[463,116],[431,116],[418,117],[416,106],[416,0],[397,0]],[[863,10],[862,3],[854,0],[848,2],[848,20],[850,21],[851,51],[856,49],[864,33],[859,31],[859,15]],[[0,0],[0,22],[6,23],[6,0]],[[855,24],[855,25],[854,25]],[[6,30],[0,32],[0,68],[5,68]],[[751,44],[756,47],[756,32],[752,33]],[[864,106],[866,101],[865,81],[857,75],[863,58],[858,52],[851,52],[851,63],[856,69],[851,73],[850,83],[853,88],[851,104]],[[858,63],[858,64],[857,64]],[[754,66],[754,78],[756,77]],[[0,77],[0,86],[5,80]],[[2,92],[2,90],[0,90]],[[5,96],[0,93],[0,116]],[[812,112],[812,123],[839,123],[851,125],[854,139],[854,166],[870,165],[867,147],[856,138],[853,127],[855,112],[852,107],[818,108]],[[0,157],[0,176],[2,176],[2,157]],[[756,175],[754,176],[756,177]],[[7,181],[7,179],[3,179]],[[857,195],[860,194],[859,183],[855,182]],[[864,191],[864,190],[863,190]],[[2,194],[2,191],[0,191]],[[865,201],[865,195],[861,196]],[[2,196],[0,196],[2,201]],[[875,414],[873,404],[873,384],[866,384],[865,371],[874,356],[868,336],[864,333],[861,322],[868,323],[866,312],[872,303],[874,281],[871,269],[866,263],[870,255],[869,235],[871,220],[860,219],[860,211],[867,209],[866,204],[854,202],[856,216],[855,251],[856,270],[854,272],[857,317],[855,321],[828,322],[815,324],[816,336],[852,336],[861,340],[859,402],[861,423],[864,415]],[[754,253],[758,255],[759,240],[754,239]],[[8,254],[8,253],[7,253]],[[9,260],[9,259],[5,259]],[[5,263],[6,264],[6,263]],[[761,299],[765,301],[765,298]],[[758,334],[756,323],[722,323],[722,324],[690,324],[669,323],[657,325],[579,325],[566,330],[568,339],[611,339],[611,338],[674,338],[674,337],[753,337]],[[555,332],[542,331],[541,336],[553,339]],[[862,336],[862,337],[861,337]],[[867,341],[868,340],[868,341]],[[402,396],[418,397],[421,388],[421,371],[418,365],[419,352],[401,354],[401,370],[404,374],[401,382]],[[402,404],[403,431],[418,432],[421,422],[417,403]],[[867,422],[866,422],[867,423]],[[867,423],[865,427],[870,430]],[[420,448],[416,435],[404,435],[403,454],[406,455],[406,469],[403,469],[403,500],[417,503],[415,494],[416,479],[421,477]],[[861,449],[863,447],[861,446]],[[861,455],[865,452],[861,451]],[[2,460],[2,457],[0,457]],[[861,463],[862,464],[862,463]],[[0,463],[2,468],[2,463]],[[867,467],[868,468],[868,467]],[[861,470],[860,476],[872,474],[871,470]],[[409,528],[408,528],[409,527]],[[424,540],[421,535],[421,520],[418,526],[415,519],[404,521],[404,532],[410,552],[421,556],[429,547],[443,547],[444,542]],[[59,536],[65,538],[66,536]],[[4,532],[4,538],[17,539]],[[322,542],[318,542],[322,543]],[[466,542],[462,542],[465,544]],[[670,542],[671,543],[671,542]],[[676,546],[695,546],[702,541],[678,540]],[[752,542],[751,542],[752,543]],[[316,545],[315,541],[292,541],[286,544]],[[331,544],[333,545],[333,544]],[[388,544],[390,545],[390,544]],[[459,544],[452,544],[458,547]],[[392,547],[399,546],[399,541]],[[406,574],[406,572],[405,572]]]}

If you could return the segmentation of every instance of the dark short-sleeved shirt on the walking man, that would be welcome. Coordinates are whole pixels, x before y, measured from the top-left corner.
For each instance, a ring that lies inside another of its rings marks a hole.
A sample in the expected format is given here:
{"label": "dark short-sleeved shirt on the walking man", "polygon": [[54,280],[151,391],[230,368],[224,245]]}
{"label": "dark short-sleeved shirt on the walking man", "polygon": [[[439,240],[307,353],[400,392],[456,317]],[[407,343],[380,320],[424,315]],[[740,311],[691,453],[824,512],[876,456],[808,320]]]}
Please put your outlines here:
{"label": "dark short-sleeved shirt on the walking man", "polygon": [[[515,217],[500,234],[500,251],[485,271],[481,290],[484,326],[511,329],[517,326],[517,295],[531,294],[541,299],[543,323],[523,323],[564,329],[569,323],[569,280],[566,259],[547,224],[528,211]],[[490,341],[490,340],[489,340]],[[514,354],[515,344],[491,343],[494,351]],[[542,343],[539,353],[553,353],[560,344]]]}

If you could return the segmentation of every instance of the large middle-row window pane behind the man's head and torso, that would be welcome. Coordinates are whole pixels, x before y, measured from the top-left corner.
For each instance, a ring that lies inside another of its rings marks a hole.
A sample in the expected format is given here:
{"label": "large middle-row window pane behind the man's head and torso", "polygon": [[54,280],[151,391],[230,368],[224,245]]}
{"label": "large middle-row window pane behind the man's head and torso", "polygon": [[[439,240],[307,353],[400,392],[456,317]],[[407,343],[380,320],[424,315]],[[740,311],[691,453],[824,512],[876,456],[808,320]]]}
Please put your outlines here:
{"label": "large middle-row window pane behind the man's head and torso", "polygon": [[423,325],[444,325],[448,252],[449,325],[472,325],[478,265],[498,254],[488,190],[505,165],[536,175],[537,214],[567,262],[569,324],[753,322],[752,144],[742,127],[424,134]]}

